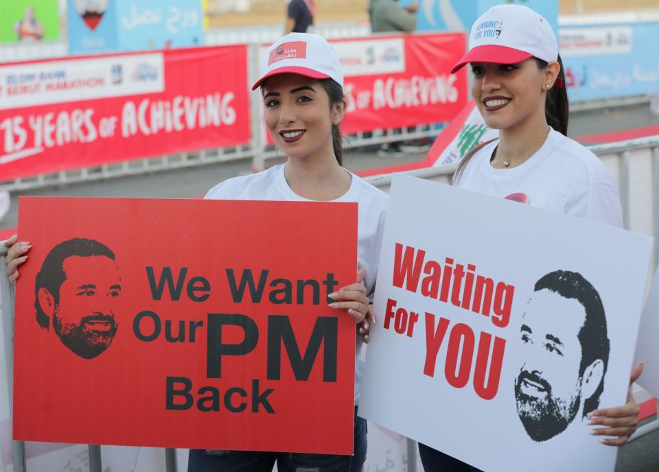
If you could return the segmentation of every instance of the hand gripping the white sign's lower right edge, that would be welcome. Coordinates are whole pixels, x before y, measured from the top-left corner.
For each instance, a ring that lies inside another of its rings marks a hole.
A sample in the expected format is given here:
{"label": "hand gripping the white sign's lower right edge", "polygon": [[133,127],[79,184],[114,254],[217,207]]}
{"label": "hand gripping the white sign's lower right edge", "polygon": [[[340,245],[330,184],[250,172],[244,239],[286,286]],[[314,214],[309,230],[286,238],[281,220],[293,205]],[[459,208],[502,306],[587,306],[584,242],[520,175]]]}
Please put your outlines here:
{"label": "hand gripping the white sign's lower right edge", "polygon": [[[632,368],[632,377],[629,380],[629,386],[634,384],[636,379],[643,372],[643,366],[640,363]],[[624,406],[616,408],[602,408],[594,410],[588,415],[590,418],[589,425],[599,425],[603,427],[592,429],[590,434],[595,436],[618,436],[617,438],[604,438],[602,443],[608,446],[622,446],[627,442],[629,436],[632,436],[638,427],[638,412],[640,408],[634,400],[634,395],[630,391],[627,394],[627,403]]]}

